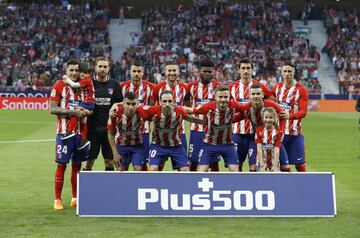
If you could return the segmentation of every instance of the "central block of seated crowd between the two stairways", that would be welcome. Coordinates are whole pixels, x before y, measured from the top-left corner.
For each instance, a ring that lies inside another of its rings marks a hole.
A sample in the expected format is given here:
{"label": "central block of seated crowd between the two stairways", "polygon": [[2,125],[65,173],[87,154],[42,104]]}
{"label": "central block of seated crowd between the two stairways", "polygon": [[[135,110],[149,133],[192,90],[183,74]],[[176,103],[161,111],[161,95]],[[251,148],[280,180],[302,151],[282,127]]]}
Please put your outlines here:
{"label": "central block of seated crowd between the two stairways", "polygon": [[134,58],[146,62],[146,74],[161,80],[167,61],[176,60],[182,79],[198,76],[196,62],[210,56],[217,65],[216,79],[237,79],[242,57],[254,62],[254,78],[271,88],[280,80],[277,66],[291,60],[298,65],[302,82],[319,88],[320,54],[309,41],[293,33],[290,11],[284,1],[216,3],[202,8],[162,7],[142,14],[143,35],[121,58],[120,80],[128,75]]}

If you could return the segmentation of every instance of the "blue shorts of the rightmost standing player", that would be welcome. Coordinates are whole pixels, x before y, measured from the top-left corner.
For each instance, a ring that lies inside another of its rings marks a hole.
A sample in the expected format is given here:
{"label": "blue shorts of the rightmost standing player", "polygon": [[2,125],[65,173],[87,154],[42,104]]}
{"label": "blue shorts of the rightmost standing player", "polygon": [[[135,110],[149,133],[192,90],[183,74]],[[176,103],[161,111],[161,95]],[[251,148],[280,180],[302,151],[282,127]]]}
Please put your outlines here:
{"label": "blue shorts of the rightmost standing player", "polygon": [[290,164],[305,163],[304,136],[284,136],[283,145]]}

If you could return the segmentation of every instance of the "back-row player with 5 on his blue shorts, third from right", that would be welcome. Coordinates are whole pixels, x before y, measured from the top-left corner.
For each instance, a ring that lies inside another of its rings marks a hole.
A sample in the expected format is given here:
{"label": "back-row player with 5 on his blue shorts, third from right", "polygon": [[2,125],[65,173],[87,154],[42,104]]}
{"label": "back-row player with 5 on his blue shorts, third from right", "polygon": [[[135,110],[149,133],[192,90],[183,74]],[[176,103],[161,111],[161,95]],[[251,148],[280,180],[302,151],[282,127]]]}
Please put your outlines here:
{"label": "back-row player with 5 on his blue shorts, third from right", "polygon": [[[214,64],[210,60],[204,60],[200,64],[200,81],[188,83],[188,92],[190,95],[191,106],[199,107],[202,104],[215,100],[215,90],[219,82],[214,78]],[[204,115],[195,115],[196,118],[204,119]],[[190,142],[188,158],[190,160],[190,171],[197,170],[199,160],[199,151],[203,144],[205,126],[191,123]],[[212,171],[219,171],[218,163],[211,165]]]}

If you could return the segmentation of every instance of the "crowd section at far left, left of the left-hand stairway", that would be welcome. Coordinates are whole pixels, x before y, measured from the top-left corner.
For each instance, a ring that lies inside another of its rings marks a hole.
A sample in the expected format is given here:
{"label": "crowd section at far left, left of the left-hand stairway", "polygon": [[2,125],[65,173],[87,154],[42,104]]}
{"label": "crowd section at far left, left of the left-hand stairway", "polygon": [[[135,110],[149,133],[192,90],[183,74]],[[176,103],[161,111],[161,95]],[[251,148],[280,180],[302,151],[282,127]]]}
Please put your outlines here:
{"label": "crowd section at far left, left of the left-hand stairway", "polygon": [[63,74],[70,58],[110,57],[108,13],[96,3],[0,7],[0,86],[41,90]]}

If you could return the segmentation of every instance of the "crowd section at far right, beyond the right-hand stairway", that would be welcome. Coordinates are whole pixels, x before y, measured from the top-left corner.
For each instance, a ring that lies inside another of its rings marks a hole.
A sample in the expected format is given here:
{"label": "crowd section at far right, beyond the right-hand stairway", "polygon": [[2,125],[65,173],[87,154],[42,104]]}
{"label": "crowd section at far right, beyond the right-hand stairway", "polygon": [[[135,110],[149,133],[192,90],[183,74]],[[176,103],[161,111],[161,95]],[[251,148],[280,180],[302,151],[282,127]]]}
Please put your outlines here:
{"label": "crowd section at far right, beyond the right-hand stairway", "polygon": [[330,57],[339,80],[339,93],[360,93],[360,10],[324,9],[328,39],[323,52]]}

